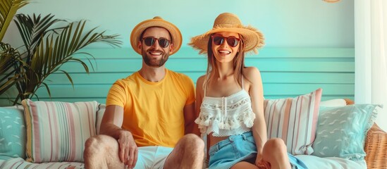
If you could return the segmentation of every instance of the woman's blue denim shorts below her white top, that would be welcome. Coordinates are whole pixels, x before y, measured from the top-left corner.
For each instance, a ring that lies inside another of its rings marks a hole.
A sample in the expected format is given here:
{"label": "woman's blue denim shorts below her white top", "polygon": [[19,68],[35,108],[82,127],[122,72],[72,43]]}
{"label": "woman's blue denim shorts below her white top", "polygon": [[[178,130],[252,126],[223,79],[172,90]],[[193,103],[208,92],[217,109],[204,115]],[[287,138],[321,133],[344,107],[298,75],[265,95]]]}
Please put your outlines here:
{"label": "woman's blue denim shorts below her white top", "polygon": [[[307,168],[300,159],[288,154],[292,168]],[[209,148],[209,169],[226,169],[240,161],[255,162],[257,146],[252,132],[232,135]]]}

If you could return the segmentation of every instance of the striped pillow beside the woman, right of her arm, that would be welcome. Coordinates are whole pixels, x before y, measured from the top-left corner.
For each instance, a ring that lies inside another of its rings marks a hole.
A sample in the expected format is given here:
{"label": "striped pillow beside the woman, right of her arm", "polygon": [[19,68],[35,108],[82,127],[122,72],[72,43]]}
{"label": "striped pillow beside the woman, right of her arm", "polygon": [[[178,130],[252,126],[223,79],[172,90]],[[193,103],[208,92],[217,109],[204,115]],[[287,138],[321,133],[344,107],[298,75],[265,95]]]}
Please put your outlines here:
{"label": "striped pillow beside the woman, right of her arm", "polygon": [[293,155],[312,154],[322,89],[288,99],[265,99],[267,137],[281,138]]}

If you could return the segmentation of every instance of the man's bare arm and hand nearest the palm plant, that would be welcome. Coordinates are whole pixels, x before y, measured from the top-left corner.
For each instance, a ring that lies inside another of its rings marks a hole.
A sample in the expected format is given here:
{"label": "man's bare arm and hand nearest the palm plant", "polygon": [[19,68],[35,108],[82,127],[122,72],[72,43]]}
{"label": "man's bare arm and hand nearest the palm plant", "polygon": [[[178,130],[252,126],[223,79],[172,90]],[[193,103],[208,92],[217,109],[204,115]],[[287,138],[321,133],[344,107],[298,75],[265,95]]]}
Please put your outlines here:
{"label": "man's bare arm and hand nearest the palm plant", "polygon": [[106,106],[99,132],[117,139],[120,160],[125,165],[128,165],[128,168],[134,168],[137,162],[137,145],[135,144],[132,133],[121,128],[122,124],[123,107],[116,105]]}

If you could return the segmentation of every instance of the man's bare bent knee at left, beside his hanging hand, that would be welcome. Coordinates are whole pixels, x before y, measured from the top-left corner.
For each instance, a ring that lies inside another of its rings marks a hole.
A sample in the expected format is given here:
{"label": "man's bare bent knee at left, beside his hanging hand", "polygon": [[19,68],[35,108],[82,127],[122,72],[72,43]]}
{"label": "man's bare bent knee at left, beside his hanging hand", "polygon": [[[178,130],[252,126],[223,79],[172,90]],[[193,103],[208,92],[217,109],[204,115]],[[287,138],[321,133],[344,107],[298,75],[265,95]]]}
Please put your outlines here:
{"label": "man's bare bent knee at left, beside his hanging hand", "polygon": [[118,158],[118,142],[107,135],[90,137],[83,152],[85,168],[124,168]]}

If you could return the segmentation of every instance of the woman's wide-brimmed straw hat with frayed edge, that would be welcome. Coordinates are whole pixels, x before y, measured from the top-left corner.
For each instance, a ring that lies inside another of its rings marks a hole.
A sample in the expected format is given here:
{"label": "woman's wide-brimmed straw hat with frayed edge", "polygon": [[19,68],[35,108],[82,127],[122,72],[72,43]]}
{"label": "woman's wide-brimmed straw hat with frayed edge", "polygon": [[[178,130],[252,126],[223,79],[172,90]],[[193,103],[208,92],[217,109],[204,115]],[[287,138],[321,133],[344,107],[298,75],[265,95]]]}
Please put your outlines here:
{"label": "woman's wide-brimmed straw hat with frayed edge", "polygon": [[212,30],[209,30],[203,35],[192,37],[189,45],[198,49],[199,54],[206,54],[209,36],[216,32],[237,32],[242,35],[245,52],[254,51],[257,53],[257,49],[264,46],[264,35],[262,32],[259,32],[259,30],[250,25],[243,26],[238,16],[233,13],[221,13],[215,19]]}

